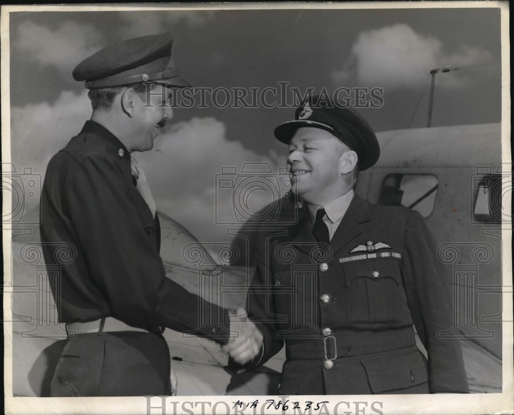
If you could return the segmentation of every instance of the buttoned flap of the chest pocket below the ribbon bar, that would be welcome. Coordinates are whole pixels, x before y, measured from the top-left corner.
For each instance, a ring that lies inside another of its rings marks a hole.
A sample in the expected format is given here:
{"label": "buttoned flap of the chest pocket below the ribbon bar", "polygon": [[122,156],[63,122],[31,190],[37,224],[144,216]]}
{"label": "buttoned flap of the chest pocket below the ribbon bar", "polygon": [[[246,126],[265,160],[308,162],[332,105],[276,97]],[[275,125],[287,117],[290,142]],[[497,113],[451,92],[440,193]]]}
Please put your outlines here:
{"label": "buttoned flap of the chest pocket below the ribbon bar", "polygon": [[394,258],[359,259],[341,263],[346,285],[352,284],[355,278],[370,279],[392,278],[396,285],[400,284],[400,262]]}

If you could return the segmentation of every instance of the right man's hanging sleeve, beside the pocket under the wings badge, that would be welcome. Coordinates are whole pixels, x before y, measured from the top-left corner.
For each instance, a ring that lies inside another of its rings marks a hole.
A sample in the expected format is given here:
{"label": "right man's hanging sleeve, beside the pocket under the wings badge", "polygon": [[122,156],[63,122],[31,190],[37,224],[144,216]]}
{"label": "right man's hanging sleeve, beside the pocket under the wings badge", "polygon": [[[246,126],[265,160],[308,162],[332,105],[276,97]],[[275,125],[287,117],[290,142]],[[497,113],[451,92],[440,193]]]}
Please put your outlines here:
{"label": "right man's hanging sleeve, beside the pocket under the wings badge", "polygon": [[431,393],[468,393],[460,341],[438,336],[453,327],[453,303],[437,246],[423,217],[412,211],[405,231],[402,268],[407,300],[428,353]]}

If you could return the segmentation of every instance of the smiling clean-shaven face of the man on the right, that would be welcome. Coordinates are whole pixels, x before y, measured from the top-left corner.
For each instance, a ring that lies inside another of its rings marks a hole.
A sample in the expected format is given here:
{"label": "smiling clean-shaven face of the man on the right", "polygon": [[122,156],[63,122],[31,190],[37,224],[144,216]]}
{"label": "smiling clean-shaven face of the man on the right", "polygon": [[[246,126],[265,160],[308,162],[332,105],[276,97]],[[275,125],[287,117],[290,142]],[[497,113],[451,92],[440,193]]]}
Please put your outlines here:
{"label": "smiling clean-shaven face of the man on the right", "polygon": [[310,204],[323,206],[348,192],[356,163],[355,152],[324,129],[298,128],[289,142],[291,189]]}

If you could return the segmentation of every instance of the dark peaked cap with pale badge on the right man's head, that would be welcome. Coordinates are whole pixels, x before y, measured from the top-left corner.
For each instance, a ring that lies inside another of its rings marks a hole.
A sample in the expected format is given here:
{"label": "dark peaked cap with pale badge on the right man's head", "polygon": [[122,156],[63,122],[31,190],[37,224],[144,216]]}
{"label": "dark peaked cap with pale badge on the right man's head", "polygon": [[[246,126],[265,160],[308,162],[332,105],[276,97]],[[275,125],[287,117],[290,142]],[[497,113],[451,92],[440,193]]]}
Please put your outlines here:
{"label": "dark peaked cap with pale badge on the right man's head", "polygon": [[334,104],[325,97],[304,100],[295,112],[295,120],[279,125],[274,134],[289,144],[300,127],[321,128],[333,134],[357,153],[361,171],[373,166],[380,157],[380,146],[368,121],[355,109]]}

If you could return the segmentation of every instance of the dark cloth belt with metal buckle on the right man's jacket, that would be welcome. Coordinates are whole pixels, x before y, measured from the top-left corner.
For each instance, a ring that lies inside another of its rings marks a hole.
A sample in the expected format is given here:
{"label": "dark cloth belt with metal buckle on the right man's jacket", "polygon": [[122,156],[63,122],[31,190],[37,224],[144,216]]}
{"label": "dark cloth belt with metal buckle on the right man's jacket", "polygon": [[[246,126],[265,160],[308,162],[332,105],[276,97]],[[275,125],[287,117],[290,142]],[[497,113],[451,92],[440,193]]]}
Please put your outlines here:
{"label": "dark cloth belt with metal buckle on the right man's jacket", "polygon": [[288,360],[358,356],[414,346],[414,330],[405,327],[386,331],[334,330],[328,335],[286,339]]}

